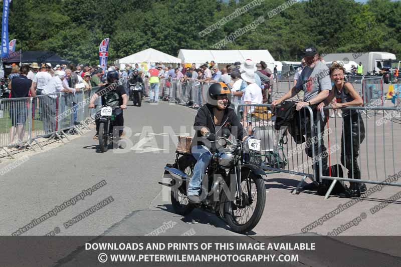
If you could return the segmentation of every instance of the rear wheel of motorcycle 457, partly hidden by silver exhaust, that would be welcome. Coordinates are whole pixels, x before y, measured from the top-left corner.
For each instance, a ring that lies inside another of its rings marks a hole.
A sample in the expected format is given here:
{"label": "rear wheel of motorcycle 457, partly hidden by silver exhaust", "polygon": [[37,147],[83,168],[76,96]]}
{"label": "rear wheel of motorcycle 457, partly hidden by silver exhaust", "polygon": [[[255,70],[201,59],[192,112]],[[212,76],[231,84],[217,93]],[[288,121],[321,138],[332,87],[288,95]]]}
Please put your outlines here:
{"label": "rear wheel of motorcycle 457, partly hidden by silver exhaust", "polygon": [[[179,170],[183,171],[188,175],[192,175],[192,164],[190,155],[183,155],[178,159]],[[171,188],[171,204],[174,211],[180,215],[186,215],[190,213],[194,206],[189,203],[189,199],[186,196],[186,183],[183,182],[179,188]]]}

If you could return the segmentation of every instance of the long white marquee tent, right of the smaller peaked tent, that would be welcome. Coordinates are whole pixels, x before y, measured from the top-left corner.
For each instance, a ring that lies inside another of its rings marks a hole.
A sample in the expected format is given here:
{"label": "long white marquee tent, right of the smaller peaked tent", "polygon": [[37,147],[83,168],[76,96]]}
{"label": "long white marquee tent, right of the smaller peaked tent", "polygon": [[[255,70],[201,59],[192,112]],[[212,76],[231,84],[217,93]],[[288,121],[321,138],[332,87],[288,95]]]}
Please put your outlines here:
{"label": "long white marquee tent, right of the smaller peaked tent", "polygon": [[180,49],[178,58],[185,63],[203,64],[215,61],[217,64],[229,64],[251,59],[254,62],[264,61],[267,64],[274,64],[274,59],[266,49],[262,50],[188,50]]}

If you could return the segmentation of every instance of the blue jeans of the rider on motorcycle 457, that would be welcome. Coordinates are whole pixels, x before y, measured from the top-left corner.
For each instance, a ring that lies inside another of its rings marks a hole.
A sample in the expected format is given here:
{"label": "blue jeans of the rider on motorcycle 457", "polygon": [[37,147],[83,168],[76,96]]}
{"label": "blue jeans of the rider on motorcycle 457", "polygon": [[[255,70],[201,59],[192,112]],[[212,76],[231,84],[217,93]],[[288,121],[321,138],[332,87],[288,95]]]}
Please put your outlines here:
{"label": "blue jeans of the rider on motorcycle 457", "polygon": [[191,152],[192,156],[196,159],[196,164],[193,168],[192,178],[188,184],[187,195],[200,195],[202,178],[212,159],[212,153],[206,146],[194,146]]}

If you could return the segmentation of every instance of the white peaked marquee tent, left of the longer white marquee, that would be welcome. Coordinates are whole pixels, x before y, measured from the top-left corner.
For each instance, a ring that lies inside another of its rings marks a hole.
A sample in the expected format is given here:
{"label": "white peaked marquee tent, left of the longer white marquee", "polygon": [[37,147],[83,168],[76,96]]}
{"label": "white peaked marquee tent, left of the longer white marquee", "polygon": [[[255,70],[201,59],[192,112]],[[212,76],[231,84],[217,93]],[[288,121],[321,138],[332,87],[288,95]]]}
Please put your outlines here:
{"label": "white peaked marquee tent, left of the longer white marquee", "polygon": [[132,54],[122,59],[116,60],[115,64],[134,64],[134,63],[181,63],[179,58],[160,52],[153,48],[145,49],[141,52]]}

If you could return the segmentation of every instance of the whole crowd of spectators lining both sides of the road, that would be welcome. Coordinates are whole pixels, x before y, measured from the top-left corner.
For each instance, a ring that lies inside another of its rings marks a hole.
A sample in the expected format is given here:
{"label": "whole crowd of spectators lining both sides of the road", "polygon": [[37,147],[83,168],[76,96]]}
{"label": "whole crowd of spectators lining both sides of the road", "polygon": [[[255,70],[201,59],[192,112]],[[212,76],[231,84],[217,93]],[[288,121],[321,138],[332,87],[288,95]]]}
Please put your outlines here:
{"label": "whole crowd of spectators lining both sides of the road", "polygon": [[[106,72],[99,65],[75,66],[70,64],[68,66],[52,66],[52,64],[46,63],[39,66],[37,63],[33,63],[21,67],[13,65],[12,72],[8,76],[9,98],[46,95],[48,97],[47,101],[40,103],[38,99],[34,106],[36,109],[40,109],[38,114],[46,114],[46,117],[50,118],[56,117],[56,98],[58,95],[60,93],[63,93],[64,96],[70,95],[73,99],[74,123],[78,124],[76,106],[79,100],[77,93],[104,85],[104,77],[108,71],[112,70],[119,73],[120,82],[124,85],[128,95],[130,81],[143,82],[146,89],[145,95],[151,97],[151,102],[157,102],[159,98],[166,101],[171,100],[170,90],[173,89],[172,83],[178,81],[181,84],[192,82],[193,85],[224,82],[233,92],[232,104],[235,108],[241,103],[269,103],[271,95],[269,93],[270,83],[273,79],[272,72],[267,68],[266,63],[262,61],[255,64],[252,60],[246,60],[242,64],[235,62],[224,66],[219,66],[214,61],[206,62],[197,67],[196,64],[182,63],[177,64],[175,68],[171,64],[152,63],[149,68],[143,64],[127,64],[125,68],[120,69],[118,66],[111,64],[107,66]],[[20,78],[16,80],[16,77]],[[160,92],[159,88],[161,89]],[[183,90],[185,91],[185,88]],[[207,102],[207,99],[200,91],[199,89],[184,92],[188,106],[199,108],[200,105]],[[197,99],[200,101],[190,101],[190,99],[193,99],[192,94],[196,94]],[[176,96],[175,93],[174,96]],[[17,133],[19,140],[22,140],[27,116],[26,114],[17,116],[16,114],[19,113],[16,113],[15,109],[11,112],[13,112],[12,116],[10,116],[13,120],[13,127],[10,134],[10,143],[13,143]],[[247,113],[243,113],[244,120],[247,119]],[[42,117],[42,115],[40,116]],[[55,120],[46,119],[42,121],[46,133],[54,131]]]}

